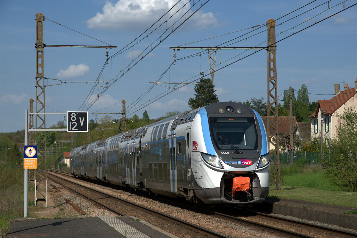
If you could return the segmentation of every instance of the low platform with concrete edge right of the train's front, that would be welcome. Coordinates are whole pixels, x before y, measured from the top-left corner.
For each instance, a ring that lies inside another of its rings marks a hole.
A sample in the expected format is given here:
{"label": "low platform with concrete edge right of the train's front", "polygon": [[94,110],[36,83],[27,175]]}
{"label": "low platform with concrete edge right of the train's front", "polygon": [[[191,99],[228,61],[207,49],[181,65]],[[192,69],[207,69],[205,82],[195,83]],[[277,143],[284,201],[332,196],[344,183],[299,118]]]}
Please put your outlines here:
{"label": "low platform with concrete edge right of the train's front", "polygon": [[357,229],[357,214],[342,214],[343,212],[356,210],[357,208],[278,198],[268,198],[265,202],[259,204],[258,207],[268,213],[282,214],[309,221]]}

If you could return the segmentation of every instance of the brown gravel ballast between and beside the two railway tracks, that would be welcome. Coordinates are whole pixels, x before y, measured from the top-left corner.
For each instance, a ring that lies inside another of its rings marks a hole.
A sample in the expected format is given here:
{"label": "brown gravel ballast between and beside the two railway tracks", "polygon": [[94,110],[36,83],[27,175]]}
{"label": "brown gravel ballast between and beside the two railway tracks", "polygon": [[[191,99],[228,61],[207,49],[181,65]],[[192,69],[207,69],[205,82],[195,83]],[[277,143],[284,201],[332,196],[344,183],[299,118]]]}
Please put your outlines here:
{"label": "brown gravel ballast between and beside the two railway tracks", "polygon": [[[60,177],[64,177],[64,176],[61,176],[58,174],[56,174],[56,175],[60,176]],[[65,178],[69,179],[70,181],[76,182],[78,184],[85,185],[87,187],[94,188],[99,191],[111,194],[113,196],[125,199],[127,201],[135,202],[137,204],[140,204],[141,206],[150,207],[151,209],[155,209],[162,213],[170,214],[171,216],[174,216],[176,218],[180,218],[182,220],[196,224],[198,226],[205,227],[212,231],[215,231],[215,232],[218,232],[221,234],[225,234],[226,236],[242,237],[242,238],[246,238],[246,237],[247,238],[248,237],[249,238],[282,237],[280,235],[273,234],[271,232],[267,232],[267,231],[265,232],[262,230],[258,230],[257,228],[252,228],[252,227],[248,227],[245,225],[237,225],[236,223],[229,223],[229,222],[227,223],[226,221],[221,221],[220,219],[214,217],[213,215],[206,215],[206,214],[202,214],[202,213],[188,211],[186,209],[177,208],[174,206],[170,206],[168,204],[163,204],[163,203],[154,201],[152,199],[140,197],[140,196],[137,196],[136,194],[132,194],[129,192],[112,189],[112,188],[100,186],[97,184],[92,184],[90,182],[81,181],[81,180],[75,179],[75,178],[68,178],[68,177],[65,177]],[[55,183],[53,183],[53,184],[55,184]],[[61,186],[58,185],[58,187],[61,187]],[[50,196],[54,200],[55,204],[58,204],[57,206],[60,207],[61,214],[64,217],[117,216],[117,214],[107,211],[106,209],[100,208],[97,205],[95,205],[93,202],[87,201],[87,199],[85,199],[85,198],[74,195],[74,194],[68,192],[66,189],[61,189],[60,193],[52,192],[52,193],[50,193]],[[74,208],[72,208],[66,202],[64,202],[64,198],[70,199],[77,206],[79,206],[83,211],[85,211],[86,214],[83,216],[80,216],[80,214],[77,213],[74,210]],[[131,214],[131,215],[135,216],[135,214]],[[287,217],[287,216],[283,216],[283,217]],[[293,218],[293,217],[289,217],[289,218],[303,220],[303,219],[298,219],[298,218]],[[303,220],[303,221],[306,221],[306,220]],[[315,222],[312,222],[312,223],[315,223]],[[315,223],[315,224],[317,224],[317,223]],[[321,223],[319,223],[319,224],[321,224]],[[322,224],[322,225],[330,226],[328,224]],[[336,227],[336,226],[330,226],[330,227],[347,230],[345,228]],[[353,231],[353,230],[350,230],[350,231]],[[356,231],[353,231],[353,232],[356,232]],[[180,236],[180,237],[183,237],[183,236]]]}

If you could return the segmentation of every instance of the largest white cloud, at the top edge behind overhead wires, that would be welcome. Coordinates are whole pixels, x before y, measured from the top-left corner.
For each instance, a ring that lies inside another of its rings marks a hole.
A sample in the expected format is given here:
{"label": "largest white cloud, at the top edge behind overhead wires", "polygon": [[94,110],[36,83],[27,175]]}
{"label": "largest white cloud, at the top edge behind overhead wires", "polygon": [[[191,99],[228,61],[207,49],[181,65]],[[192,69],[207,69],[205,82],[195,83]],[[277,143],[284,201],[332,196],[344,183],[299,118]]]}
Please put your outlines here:
{"label": "largest white cloud, at the top edge behind overhead wires", "polygon": [[[177,0],[120,0],[116,4],[107,1],[102,12],[87,20],[87,27],[90,29],[106,30],[126,30],[141,31],[146,30],[152,23],[156,22],[160,16],[164,15]],[[185,2],[179,2],[169,14],[174,14]],[[179,17],[191,7],[190,3],[183,7],[175,16]],[[192,12],[189,11],[189,14]],[[165,18],[167,19],[167,17]],[[171,19],[172,22],[176,19]],[[204,13],[197,11],[190,20],[191,27],[195,29],[207,29],[208,26],[216,25],[217,19],[211,12]],[[192,30],[192,29],[191,29]]]}

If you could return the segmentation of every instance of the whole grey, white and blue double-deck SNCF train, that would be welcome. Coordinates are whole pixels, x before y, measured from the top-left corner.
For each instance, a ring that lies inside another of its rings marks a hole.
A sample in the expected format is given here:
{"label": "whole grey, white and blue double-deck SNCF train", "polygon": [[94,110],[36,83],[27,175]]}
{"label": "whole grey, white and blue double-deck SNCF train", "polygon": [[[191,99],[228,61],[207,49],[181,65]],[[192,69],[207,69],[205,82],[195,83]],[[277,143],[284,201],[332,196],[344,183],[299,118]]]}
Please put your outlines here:
{"label": "whole grey, white and blue double-deck SNCF train", "polygon": [[245,206],[268,196],[268,146],[255,110],[217,102],[74,148],[70,172],[194,204]]}

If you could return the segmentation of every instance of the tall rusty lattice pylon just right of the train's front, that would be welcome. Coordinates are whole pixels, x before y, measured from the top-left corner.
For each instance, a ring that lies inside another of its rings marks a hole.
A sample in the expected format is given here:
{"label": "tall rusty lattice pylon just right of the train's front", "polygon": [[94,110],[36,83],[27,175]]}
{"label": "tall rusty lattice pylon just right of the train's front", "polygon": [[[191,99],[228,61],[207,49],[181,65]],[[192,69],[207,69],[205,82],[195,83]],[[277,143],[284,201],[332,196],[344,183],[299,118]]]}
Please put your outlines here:
{"label": "tall rusty lattice pylon just right of the train's front", "polygon": [[[275,44],[275,21],[270,19],[267,21],[268,27],[268,110],[267,110],[267,133],[270,143],[275,146],[274,154],[276,161],[271,160],[275,164],[275,168],[270,174],[270,180],[276,184],[275,189],[280,189],[280,159],[279,159],[279,130],[278,130],[278,83],[276,76],[276,44]],[[272,102],[270,100],[272,99]],[[273,110],[272,107],[275,107]],[[270,113],[273,114],[270,120]],[[270,130],[274,131],[274,135],[270,135]],[[275,137],[275,142],[273,141]],[[274,179],[276,173],[276,178]]]}

